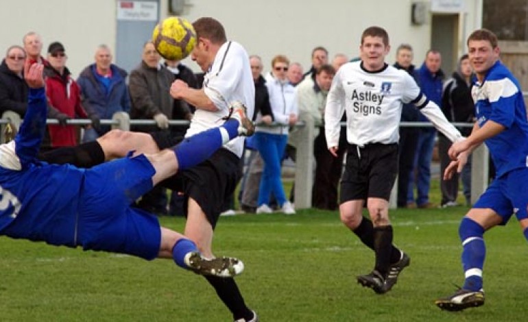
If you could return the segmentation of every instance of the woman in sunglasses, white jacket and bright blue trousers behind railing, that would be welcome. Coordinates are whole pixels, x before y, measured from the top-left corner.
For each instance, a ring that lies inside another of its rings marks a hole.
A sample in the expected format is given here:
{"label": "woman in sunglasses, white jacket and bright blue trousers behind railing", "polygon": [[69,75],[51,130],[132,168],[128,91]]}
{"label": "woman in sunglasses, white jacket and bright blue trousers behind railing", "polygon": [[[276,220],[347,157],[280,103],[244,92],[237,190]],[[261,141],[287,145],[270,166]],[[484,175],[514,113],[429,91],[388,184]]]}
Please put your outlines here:
{"label": "woman in sunglasses, white jacket and bright blue trousers behind railing", "polygon": [[[285,214],[295,214],[295,210],[286,199],[283,182],[280,177],[280,160],[283,157],[288,141],[290,125],[297,122],[297,93],[289,84],[287,71],[289,60],[284,55],[276,55],[272,60],[272,72],[266,77],[269,103],[272,106],[272,116],[257,116],[254,134],[256,148],[264,160],[264,171],[259,188],[257,214],[271,213],[269,197],[274,194],[277,203]],[[271,125],[275,122],[276,126]]]}

